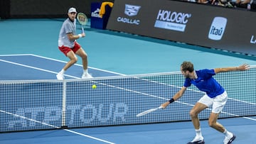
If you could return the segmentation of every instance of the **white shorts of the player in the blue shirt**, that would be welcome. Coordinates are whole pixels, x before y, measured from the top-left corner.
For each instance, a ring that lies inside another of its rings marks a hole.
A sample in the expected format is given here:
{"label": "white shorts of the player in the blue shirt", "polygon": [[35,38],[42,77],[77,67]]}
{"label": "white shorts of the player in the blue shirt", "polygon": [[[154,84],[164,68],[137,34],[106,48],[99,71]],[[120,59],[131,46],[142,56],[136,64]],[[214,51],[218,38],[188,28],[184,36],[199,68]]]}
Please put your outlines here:
{"label": "white shorts of the player in the blue shirt", "polygon": [[201,99],[199,99],[198,102],[208,106],[208,108],[212,106],[213,113],[220,113],[223,110],[227,100],[228,94],[227,92],[223,92],[223,94],[220,94],[214,98],[210,98],[207,94],[205,94],[203,97],[201,97]]}

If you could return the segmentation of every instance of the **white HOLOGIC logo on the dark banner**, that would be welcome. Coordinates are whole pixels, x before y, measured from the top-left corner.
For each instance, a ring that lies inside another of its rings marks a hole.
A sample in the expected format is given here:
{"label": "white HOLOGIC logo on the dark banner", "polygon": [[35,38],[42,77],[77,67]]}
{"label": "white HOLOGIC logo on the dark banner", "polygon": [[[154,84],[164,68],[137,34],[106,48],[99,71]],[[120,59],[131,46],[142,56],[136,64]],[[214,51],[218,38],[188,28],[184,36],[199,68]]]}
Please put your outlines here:
{"label": "white HOLOGIC logo on the dark banner", "polygon": [[184,32],[186,29],[186,23],[188,23],[188,18],[191,18],[191,16],[191,13],[181,13],[160,9],[156,17],[154,27]]}

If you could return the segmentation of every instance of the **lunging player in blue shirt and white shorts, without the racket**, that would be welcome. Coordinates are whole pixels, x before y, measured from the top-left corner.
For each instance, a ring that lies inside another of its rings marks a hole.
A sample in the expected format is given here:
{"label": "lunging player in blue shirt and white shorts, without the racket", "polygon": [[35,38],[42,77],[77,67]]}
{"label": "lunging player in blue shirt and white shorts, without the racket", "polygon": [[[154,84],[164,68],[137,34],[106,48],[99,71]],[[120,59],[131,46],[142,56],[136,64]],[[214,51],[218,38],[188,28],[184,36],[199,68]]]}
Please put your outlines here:
{"label": "lunging player in blue shirt and white shorts, without the racket", "polygon": [[188,142],[188,144],[205,143],[201,133],[198,113],[210,107],[212,111],[208,119],[209,126],[225,135],[225,139],[223,140],[224,144],[230,144],[235,140],[235,135],[227,131],[224,126],[217,122],[218,116],[228,100],[228,95],[225,89],[213,78],[213,75],[219,72],[244,71],[249,69],[249,65],[244,64],[239,67],[194,70],[191,62],[185,61],[181,64],[181,73],[186,77],[183,87],[169,101],[161,104],[161,106],[163,106],[164,109],[166,106],[179,99],[191,84],[195,85],[201,91],[206,92],[190,111],[191,120],[196,130],[196,137],[191,142]]}

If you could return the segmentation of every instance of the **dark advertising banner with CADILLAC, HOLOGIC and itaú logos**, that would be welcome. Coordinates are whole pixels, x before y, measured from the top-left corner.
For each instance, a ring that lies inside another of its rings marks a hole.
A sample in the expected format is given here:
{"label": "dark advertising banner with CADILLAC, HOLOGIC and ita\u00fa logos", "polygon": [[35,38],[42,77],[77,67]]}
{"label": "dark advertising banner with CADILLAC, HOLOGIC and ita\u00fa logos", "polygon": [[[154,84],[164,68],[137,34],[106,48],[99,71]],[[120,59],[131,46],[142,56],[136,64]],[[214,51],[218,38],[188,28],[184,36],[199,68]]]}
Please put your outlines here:
{"label": "dark advertising banner with CADILLAC, HOLOGIC and ita\u00fa logos", "polygon": [[115,0],[107,29],[256,55],[256,13],[169,0]]}

